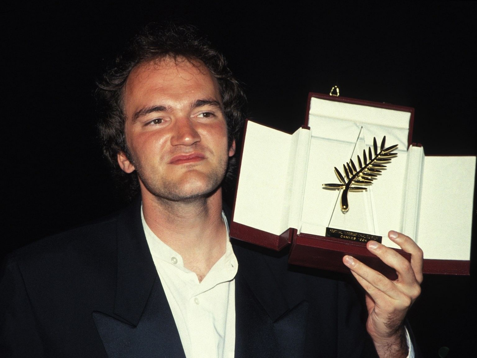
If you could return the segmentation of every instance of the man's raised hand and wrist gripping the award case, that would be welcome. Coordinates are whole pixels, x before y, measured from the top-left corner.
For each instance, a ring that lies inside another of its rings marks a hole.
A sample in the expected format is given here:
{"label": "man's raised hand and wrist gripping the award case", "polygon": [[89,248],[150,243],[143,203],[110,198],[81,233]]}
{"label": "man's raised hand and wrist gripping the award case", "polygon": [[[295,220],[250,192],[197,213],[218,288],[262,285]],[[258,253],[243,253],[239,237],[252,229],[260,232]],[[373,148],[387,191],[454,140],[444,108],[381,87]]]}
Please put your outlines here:
{"label": "man's raised hand and wrist gripping the award case", "polygon": [[411,254],[411,262],[393,249],[375,241],[367,243],[368,250],[394,268],[397,280],[391,281],[351,256],[343,263],[366,291],[368,320],[366,330],[373,339],[380,357],[406,357],[404,316],[421,293],[423,252],[408,236],[390,231],[389,239]]}

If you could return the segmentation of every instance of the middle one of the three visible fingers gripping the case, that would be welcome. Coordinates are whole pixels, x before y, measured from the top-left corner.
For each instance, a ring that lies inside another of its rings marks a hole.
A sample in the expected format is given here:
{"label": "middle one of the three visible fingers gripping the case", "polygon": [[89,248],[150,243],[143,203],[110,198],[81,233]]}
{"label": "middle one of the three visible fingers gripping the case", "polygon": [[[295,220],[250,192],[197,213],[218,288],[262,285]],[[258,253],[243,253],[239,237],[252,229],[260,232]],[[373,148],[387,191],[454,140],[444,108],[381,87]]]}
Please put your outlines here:
{"label": "middle one of the three visible fingers gripping the case", "polygon": [[413,267],[406,258],[397,251],[375,241],[369,241],[367,248],[370,252],[375,254],[386,265],[394,268],[397,273],[397,282],[404,284],[415,284],[416,276]]}

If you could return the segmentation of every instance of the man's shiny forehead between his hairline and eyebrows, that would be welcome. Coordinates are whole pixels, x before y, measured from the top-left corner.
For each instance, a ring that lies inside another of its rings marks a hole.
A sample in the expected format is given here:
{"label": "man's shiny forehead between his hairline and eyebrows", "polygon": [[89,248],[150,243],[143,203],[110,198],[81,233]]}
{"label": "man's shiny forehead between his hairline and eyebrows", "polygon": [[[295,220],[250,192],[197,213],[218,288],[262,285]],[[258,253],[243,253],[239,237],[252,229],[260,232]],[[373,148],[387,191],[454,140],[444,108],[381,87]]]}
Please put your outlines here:
{"label": "man's shiny forehead between his hairline and eyebrows", "polygon": [[137,106],[176,106],[205,98],[222,102],[217,79],[202,62],[183,57],[137,65],[127,78],[123,96],[126,114]]}

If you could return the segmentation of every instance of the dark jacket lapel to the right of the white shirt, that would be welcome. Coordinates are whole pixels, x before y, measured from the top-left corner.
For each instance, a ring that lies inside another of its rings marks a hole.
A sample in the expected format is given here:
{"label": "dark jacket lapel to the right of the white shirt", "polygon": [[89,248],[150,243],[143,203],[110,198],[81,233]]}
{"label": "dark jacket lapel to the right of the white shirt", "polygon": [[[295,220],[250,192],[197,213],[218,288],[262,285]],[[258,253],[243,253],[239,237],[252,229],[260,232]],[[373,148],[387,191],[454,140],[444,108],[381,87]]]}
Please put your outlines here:
{"label": "dark jacket lapel to the right of the white shirt", "polygon": [[[235,357],[303,357],[308,302],[284,294],[259,250],[233,243],[239,261]],[[286,267],[286,255],[278,263]]]}

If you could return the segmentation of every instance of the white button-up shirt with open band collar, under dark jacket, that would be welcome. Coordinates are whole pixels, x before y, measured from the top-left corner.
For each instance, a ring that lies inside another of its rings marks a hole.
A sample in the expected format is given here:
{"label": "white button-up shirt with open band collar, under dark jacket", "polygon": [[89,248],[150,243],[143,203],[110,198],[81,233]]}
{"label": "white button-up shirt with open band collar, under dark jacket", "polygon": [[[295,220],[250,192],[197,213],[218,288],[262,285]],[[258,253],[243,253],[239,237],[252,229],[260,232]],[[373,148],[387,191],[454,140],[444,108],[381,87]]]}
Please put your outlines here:
{"label": "white button-up shirt with open band collar, under dark jacket", "polygon": [[[239,263],[228,236],[226,252],[202,282],[184,267],[181,255],[162,242],[144,220],[144,233],[157,274],[176,321],[187,358],[233,358],[235,355],[235,275]],[[414,347],[406,329],[407,358],[414,358]]]}

